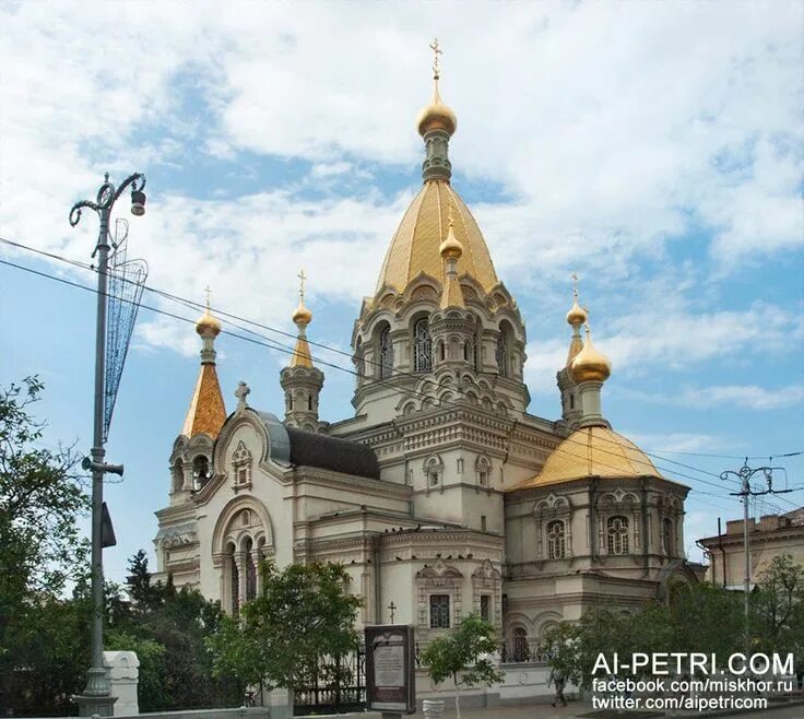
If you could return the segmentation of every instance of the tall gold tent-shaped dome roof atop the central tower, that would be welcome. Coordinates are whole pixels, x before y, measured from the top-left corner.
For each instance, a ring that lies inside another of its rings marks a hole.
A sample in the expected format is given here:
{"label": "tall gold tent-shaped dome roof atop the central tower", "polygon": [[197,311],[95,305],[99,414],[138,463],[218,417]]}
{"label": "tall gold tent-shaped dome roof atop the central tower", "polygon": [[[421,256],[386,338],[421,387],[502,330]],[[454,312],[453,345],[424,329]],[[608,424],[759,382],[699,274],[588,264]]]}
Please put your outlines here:
{"label": "tall gold tent-shaped dome roof atop the central tower", "polygon": [[377,291],[387,284],[404,292],[423,272],[441,281],[444,260],[439,248],[449,228],[450,203],[453,232],[463,246],[458,275],[472,275],[486,292],[499,283],[486,240],[469,208],[447,180],[433,179],[424,184],[402,217],[382,263]]}

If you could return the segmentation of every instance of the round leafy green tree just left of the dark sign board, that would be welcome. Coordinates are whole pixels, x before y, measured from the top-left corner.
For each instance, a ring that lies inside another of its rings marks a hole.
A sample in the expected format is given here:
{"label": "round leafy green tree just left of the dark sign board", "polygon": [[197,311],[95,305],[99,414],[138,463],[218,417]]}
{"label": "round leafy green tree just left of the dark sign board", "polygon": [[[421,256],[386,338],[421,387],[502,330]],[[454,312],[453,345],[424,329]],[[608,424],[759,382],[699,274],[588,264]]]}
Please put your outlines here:
{"label": "round leafy green tree just left of the dark sign board", "polygon": [[[208,639],[213,673],[236,677],[244,689],[286,687],[293,696],[318,675],[324,658],[336,667],[339,658],[358,648],[355,620],[362,600],[348,593],[350,577],[340,564],[279,569],[265,562],[260,571],[260,594],[236,616],[222,617]],[[335,691],[341,681],[342,672],[334,672]]]}

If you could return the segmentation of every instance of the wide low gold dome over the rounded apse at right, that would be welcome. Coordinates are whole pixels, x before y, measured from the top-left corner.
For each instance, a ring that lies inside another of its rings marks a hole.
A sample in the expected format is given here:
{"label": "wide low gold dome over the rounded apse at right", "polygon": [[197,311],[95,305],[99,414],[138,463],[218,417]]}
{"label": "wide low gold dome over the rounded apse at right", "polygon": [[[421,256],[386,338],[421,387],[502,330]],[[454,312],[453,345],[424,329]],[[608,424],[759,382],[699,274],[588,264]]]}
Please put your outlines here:
{"label": "wide low gold dome over the rounded apse at right", "polygon": [[583,427],[553,450],[536,476],[513,490],[542,487],[588,476],[636,479],[646,475],[664,479],[630,439],[607,427]]}

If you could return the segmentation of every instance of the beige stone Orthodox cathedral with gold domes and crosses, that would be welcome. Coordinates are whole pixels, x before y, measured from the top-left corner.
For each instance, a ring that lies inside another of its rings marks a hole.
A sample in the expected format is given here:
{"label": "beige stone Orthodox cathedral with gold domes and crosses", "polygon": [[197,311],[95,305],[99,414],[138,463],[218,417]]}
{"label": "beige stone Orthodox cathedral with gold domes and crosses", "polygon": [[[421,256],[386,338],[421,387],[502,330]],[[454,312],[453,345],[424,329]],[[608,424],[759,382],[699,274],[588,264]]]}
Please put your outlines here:
{"label": "beige stone Orthodox cathedral with gold domes and crosses", "polygon": [[304,292],[279,377],[284,419],[251,406],[245,382],[227,413],[221,323],[208,309],[168,506],[156,512],[156,578],[236,611],[260,591],[264,557],[340,562],[364,624],[413,624],[426,644],[477,612],[522,661],[594,603],[628,611],[673,577],[696,580],[684,559],[688,488],[605,420],[611,364],[577,287],[560,419],[528,413],[524,318],[450,182],[457,119],[435,70],[417,119],[424,182],[354,323],[354,414],[319,420],[324,375]]}

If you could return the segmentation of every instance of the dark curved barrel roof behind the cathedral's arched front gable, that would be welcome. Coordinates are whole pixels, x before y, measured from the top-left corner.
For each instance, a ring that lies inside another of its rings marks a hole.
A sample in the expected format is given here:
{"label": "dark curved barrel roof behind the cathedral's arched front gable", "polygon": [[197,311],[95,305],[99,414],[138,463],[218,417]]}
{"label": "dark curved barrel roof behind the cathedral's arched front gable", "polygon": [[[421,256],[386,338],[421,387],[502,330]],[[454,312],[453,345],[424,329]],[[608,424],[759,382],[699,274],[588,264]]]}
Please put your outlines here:
{"label": "dark curved barrel roof behind the cathedral's arched front gable", "polygon": [[366,445],[286,427],[275,414],[257,412],[268,429],[271,459],[281,464],[318,467],[355,476],[380,479],[377,455]]}

